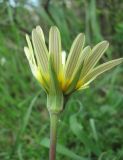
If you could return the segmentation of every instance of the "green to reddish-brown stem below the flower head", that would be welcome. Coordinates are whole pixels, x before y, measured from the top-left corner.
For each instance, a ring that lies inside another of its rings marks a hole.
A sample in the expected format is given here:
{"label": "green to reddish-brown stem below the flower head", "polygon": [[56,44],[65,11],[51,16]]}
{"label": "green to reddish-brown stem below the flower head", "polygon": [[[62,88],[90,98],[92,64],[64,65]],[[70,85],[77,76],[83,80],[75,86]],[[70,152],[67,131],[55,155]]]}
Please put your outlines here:
{"label": "green to reddish-brown stem below the flower head", "polygon": [[51,113],[50,114],[50,151],[49,151],[49,160],[56,159],[56,142],[57,142],[57,123],[58,115]]}

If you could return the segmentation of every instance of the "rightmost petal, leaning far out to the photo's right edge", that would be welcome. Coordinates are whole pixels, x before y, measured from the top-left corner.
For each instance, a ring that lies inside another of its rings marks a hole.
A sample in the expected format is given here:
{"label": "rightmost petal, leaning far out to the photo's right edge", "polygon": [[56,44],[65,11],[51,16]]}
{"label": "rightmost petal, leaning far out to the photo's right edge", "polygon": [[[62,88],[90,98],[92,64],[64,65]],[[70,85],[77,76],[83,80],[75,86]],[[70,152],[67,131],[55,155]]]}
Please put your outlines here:
{"label": "rightmost petal, leaning far out to the photo's right edge", "polygon": [[104,64],[99,65],[98,67],[94,68],[90,73],[88,73],[83,79],[83,84],[89,84],[93,81],[97,76],[100,74],[110,70],[111,68],[119,65],[123,62],[123,58],[115,59]]}

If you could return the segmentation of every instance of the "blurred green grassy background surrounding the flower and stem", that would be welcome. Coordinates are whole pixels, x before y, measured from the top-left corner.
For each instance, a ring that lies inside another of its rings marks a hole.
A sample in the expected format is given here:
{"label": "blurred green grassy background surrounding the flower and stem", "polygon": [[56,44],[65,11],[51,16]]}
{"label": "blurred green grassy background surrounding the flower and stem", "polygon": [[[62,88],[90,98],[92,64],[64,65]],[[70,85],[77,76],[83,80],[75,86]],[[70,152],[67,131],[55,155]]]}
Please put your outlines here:
{"label": "blurred green grassy background surrounding the flower and stem", "polygon": [[[122,0],[0,0],[0,160],[48,160],[46,95],[23,51],[36,25],[46,42],[57,25],[67,53],[84,32],[86,45],[110,42],[100,63],[123,56]],[[69,100],[59,121],[62,159],[123,160],[123,65]]]}

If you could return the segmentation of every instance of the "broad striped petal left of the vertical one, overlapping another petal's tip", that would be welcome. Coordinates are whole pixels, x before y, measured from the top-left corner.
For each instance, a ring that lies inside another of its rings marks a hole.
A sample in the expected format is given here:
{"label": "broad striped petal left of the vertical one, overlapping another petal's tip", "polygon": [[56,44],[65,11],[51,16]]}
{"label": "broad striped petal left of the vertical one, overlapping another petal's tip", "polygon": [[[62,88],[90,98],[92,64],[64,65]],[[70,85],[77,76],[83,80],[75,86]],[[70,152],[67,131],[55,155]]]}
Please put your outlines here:
{"label": "broad striped petal left of the vertical one, overlapping another petal's tip", "polygon": [[32,42],[36,55],[38,66],[40,67],[43,74],[48,73],[48,50],[44,42],[44,38],[41,33],[34,29],[32,31]]}

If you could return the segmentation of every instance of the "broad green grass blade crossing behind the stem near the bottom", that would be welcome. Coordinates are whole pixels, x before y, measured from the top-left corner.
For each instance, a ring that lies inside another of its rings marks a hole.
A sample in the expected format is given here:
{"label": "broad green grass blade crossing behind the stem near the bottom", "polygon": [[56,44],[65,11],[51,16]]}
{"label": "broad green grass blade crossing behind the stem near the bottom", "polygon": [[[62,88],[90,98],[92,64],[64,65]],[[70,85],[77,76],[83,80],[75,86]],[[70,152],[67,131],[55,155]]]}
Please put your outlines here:
{"label": "broad green grass blade crossing behind the stem near the bottom", "polygon": [[[50,140],[48,138],[44,138],[40,144],[46,148],[49,148]],[[69,157],[74,160],[90,160],[88,158],[84,158],[84,157],[80,157],[80,156],[76,155],[71,150],[67,149],[66,147],[64,147],[63,145],[60,145],[60,144],[57,144],[56,151],[64,156]]]}

